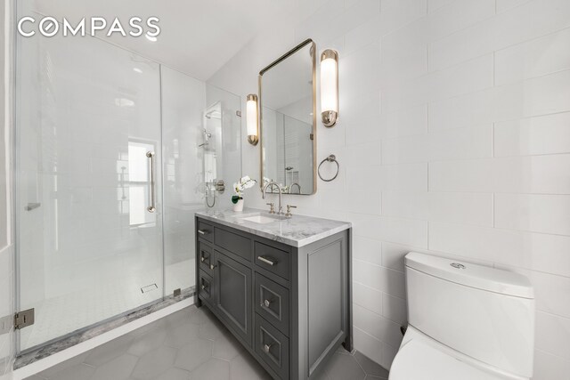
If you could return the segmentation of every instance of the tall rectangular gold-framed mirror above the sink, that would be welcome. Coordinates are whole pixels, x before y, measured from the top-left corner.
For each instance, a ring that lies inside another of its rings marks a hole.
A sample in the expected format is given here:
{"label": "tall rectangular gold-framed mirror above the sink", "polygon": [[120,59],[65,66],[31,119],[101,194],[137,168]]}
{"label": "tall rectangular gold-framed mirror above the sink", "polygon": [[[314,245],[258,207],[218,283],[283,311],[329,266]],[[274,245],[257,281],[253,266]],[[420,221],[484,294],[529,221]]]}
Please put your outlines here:
{"label": "tall rectangular gold-framed mirror above the sink", "polygon": [[315,51],[308,39],[259,72],[262,188],[276,182],[287,194],[317,190]]}

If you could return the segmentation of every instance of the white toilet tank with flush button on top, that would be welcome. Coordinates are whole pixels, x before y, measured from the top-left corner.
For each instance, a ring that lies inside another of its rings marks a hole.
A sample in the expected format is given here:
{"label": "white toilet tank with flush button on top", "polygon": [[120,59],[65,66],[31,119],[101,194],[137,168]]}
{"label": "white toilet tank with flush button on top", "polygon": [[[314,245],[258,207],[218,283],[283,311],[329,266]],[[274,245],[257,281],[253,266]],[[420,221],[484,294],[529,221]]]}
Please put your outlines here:
{"label": "white toilet tank with flush button on top", "polygon": [[411,252],[408,322],[485,364],[533,376],[534,293],[525,276]]}

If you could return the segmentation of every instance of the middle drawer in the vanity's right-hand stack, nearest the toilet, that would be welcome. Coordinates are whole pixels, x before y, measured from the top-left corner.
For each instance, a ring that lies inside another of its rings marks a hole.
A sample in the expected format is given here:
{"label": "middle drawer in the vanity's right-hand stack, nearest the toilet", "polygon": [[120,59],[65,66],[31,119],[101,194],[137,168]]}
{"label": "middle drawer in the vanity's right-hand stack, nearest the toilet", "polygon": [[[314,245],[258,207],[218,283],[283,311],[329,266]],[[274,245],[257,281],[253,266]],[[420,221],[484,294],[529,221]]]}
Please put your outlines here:
{"label": "middle drawer in the vanity's right-hand stack, nearest the toilet", "polygon": [[289,336],[289,289],[256,273],[256,312]]}

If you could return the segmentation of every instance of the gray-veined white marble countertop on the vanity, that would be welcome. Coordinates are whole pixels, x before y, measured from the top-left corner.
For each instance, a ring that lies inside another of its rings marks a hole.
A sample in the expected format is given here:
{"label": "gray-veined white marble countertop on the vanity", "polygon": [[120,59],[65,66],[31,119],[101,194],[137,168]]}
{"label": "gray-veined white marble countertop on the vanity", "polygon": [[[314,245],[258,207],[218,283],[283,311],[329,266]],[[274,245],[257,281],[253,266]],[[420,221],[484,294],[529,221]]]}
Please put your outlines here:
{"label": "gray-veined white marble countertop on the vanity", "polygon": [[262,238],[272,239],[292,247],[303,247],[317,240],[334,235],[352,227],[350,222],[333,221],[330,219],[314,218],[313,216],[294,214],[289,219],[275,220],[265,224],[244,220],[250,216],[263,215],[277,217],[264,210],[245,208],[236,213],[228,210],[202,210],[196,215],[225,226],[243,230]]}

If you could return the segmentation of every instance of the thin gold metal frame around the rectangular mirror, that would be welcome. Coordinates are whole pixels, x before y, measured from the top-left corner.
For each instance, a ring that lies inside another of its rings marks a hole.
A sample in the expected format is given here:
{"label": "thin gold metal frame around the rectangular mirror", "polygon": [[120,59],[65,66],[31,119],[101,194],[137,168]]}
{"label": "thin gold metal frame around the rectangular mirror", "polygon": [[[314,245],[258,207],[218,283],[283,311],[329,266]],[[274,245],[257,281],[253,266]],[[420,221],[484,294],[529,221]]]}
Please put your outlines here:
{"label": "thin gold metal frame around the rectangular mirror", "polygon": [[[313,195],[314,193],[317,192],[317,90],[316,90],[316,67],[317,67],[317,61],[316,61],[316,51],[317,51],[317,45],[314,43],[314,41],[311,38],[307,38],[305,39],[305,41],[303,41],[301,44],[297,44],[297,46],[295,46],[293,49],[289,50],[289,52],[281,55],[281,57],[279,57],[277,60],[271,62],[269,65],[267,65],[264,69],[261,69],[261,71],[259,71],[259,77],[257,77],[257,91],[259,93],[259,103],[257,105],[258,109],[259,109],[259,141],[261,142],[259,144],[259,172],[261,174],[261,179],[259,181],[260,183],[260,189],[263,191],[264,190],[264,152],[263,152],[263,93],[261,90],[261,84],[262,84],[262,78],[265,74],[266,71],[268,71],[269,69],[272,69],[273,67],[277,66],[278,64],[280,64],[282,61],[287,60],[291,55],[297,53],[299,50],[303,49],[306,45],[311,45],[311,60],[313,61],[313,192],[311,192],[310,194],[291,194],[291,193],[287,193],[287,195]],[[273,190],[272,190],[273,192]]]}

